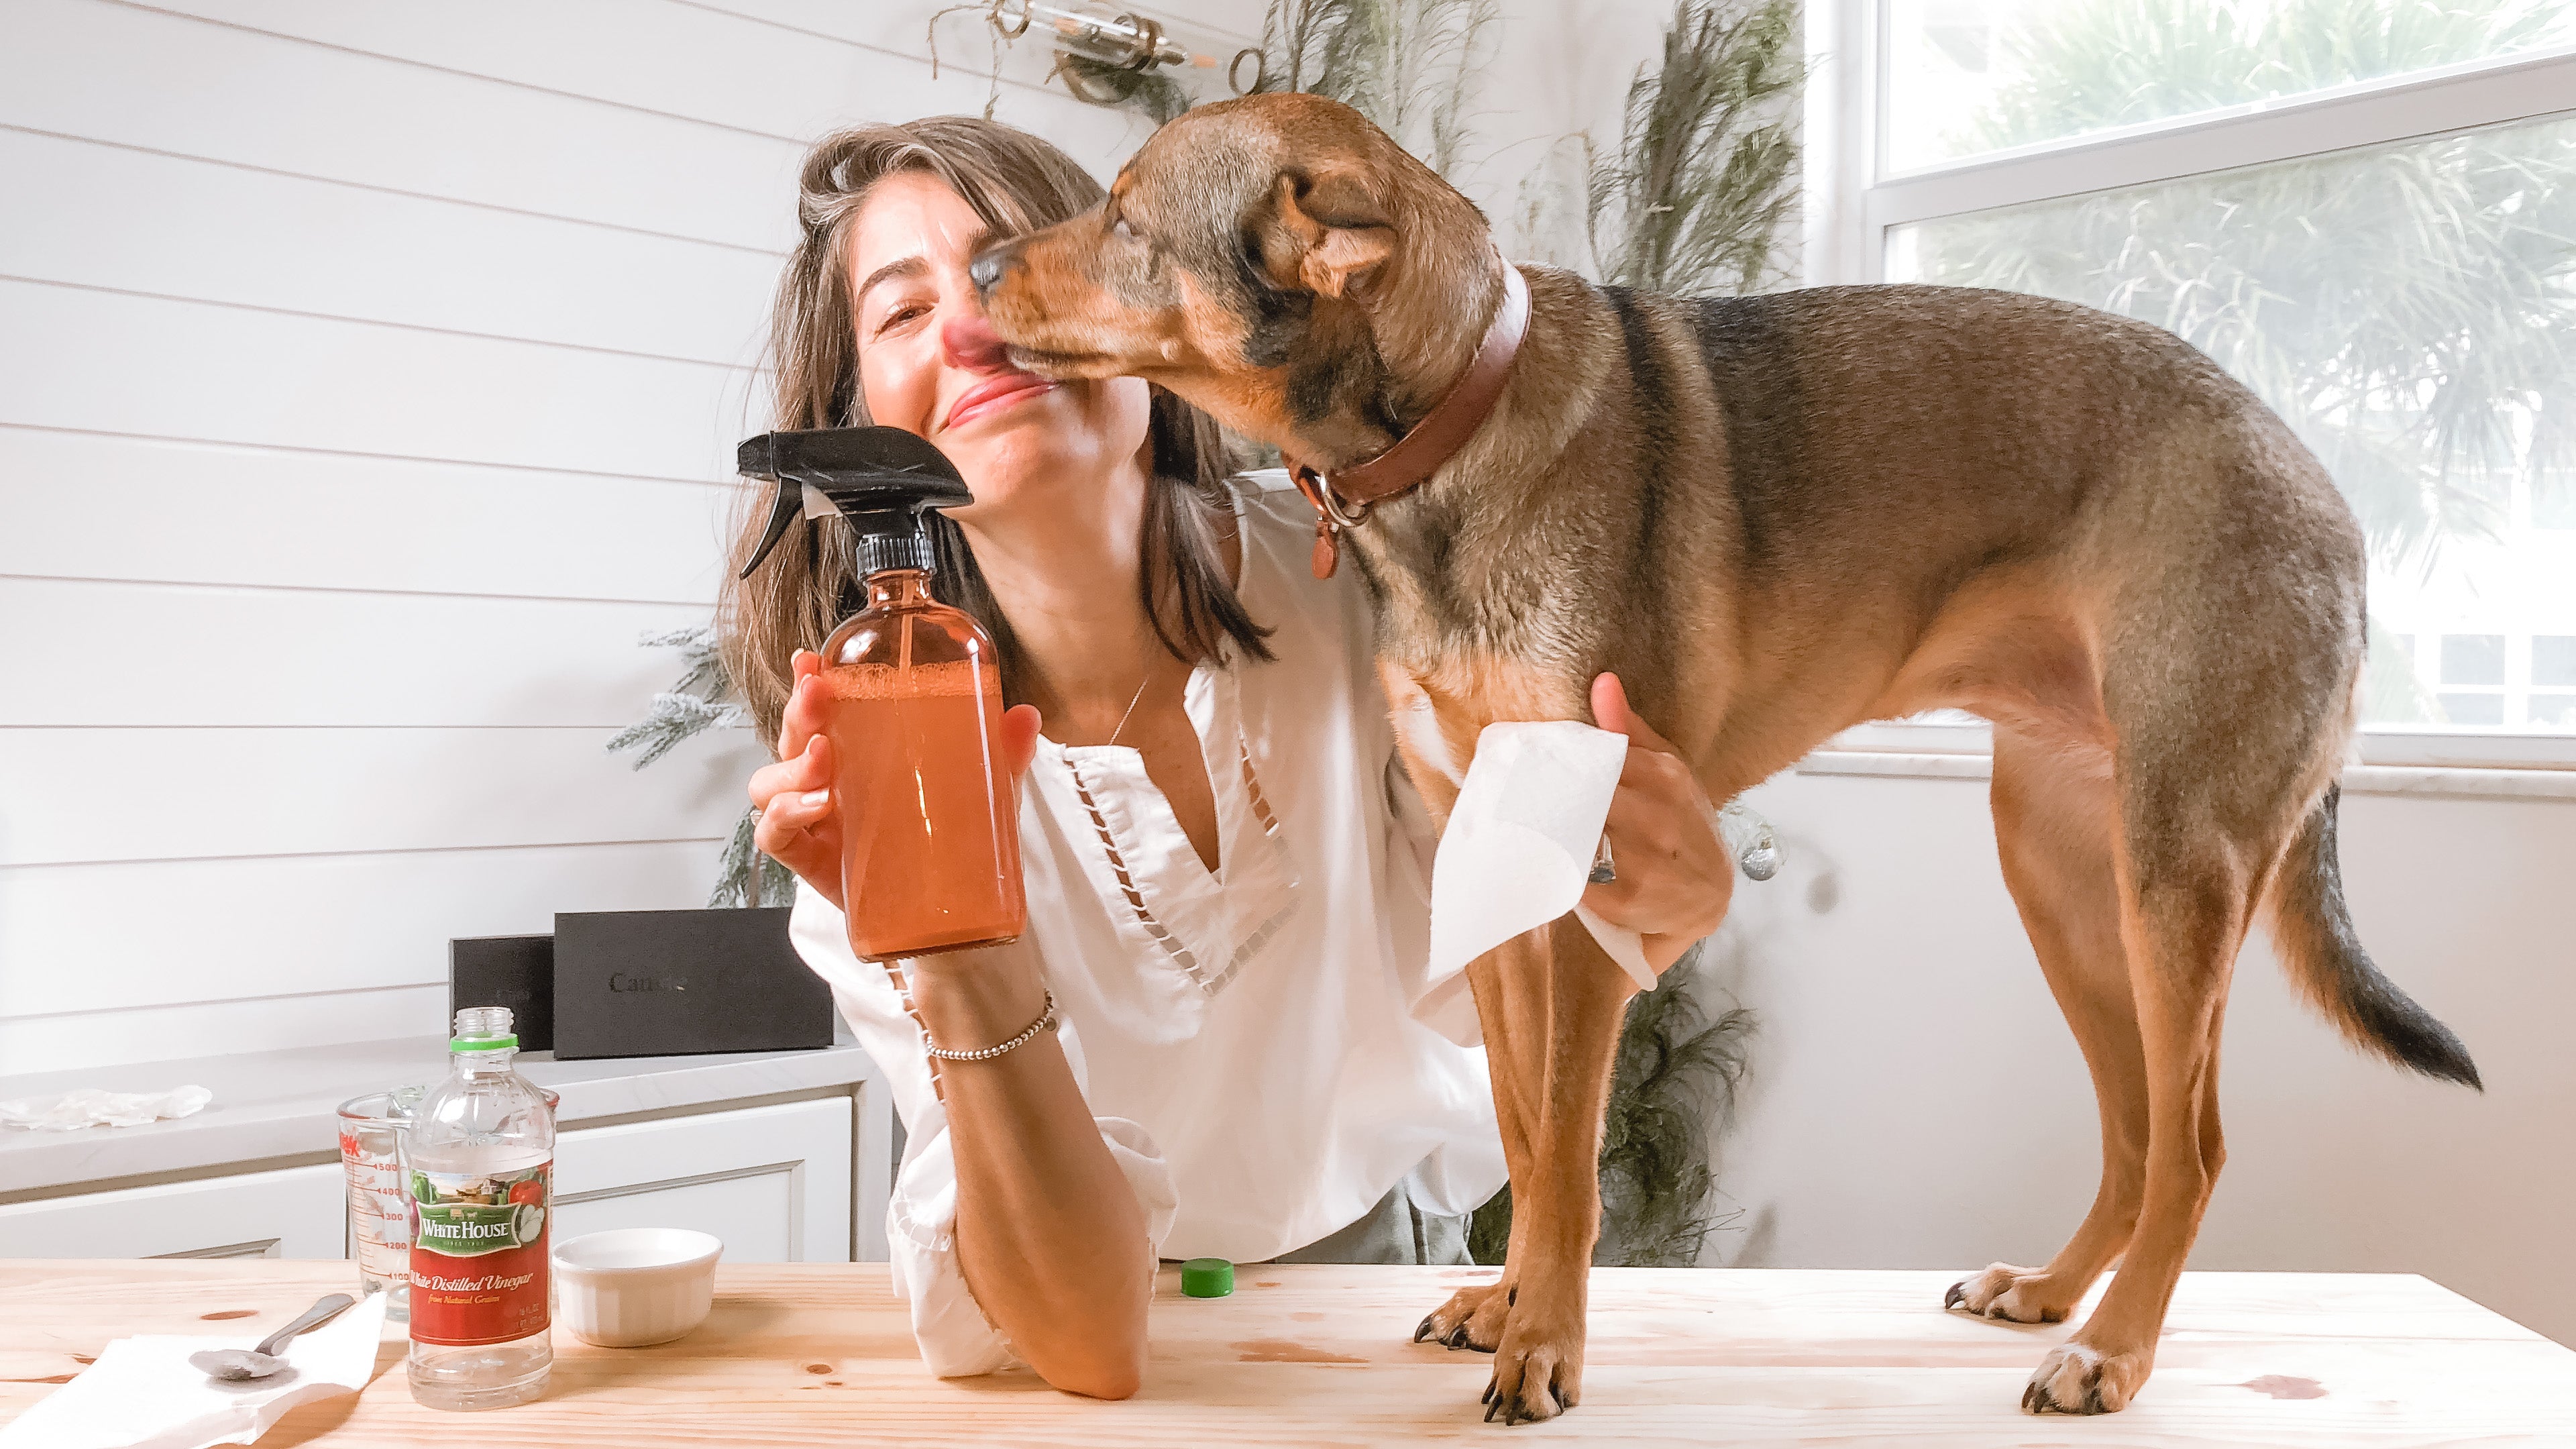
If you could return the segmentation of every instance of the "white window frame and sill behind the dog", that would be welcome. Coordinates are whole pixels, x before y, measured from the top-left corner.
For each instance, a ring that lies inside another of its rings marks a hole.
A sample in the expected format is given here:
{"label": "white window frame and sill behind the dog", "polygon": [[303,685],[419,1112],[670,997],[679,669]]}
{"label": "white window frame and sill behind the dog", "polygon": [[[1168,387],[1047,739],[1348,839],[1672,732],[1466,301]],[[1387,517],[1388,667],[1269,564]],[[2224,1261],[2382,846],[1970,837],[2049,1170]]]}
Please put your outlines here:
{"label": "white window frame and sill behind the dog", "polygon": [[[1883,173],[1888,10],[1888,0],[1806,10],[1808,286],[1886,281],[1888,232],[1917,222],[2576,116],[2576,44],[2563,44]],[[2357,740],[2372,766],[2576,768],[2576,735],[2365,724]],[[1955,755],[1994,743],[1981,722],[1909,719],[1847,730],[1829,748]]]}

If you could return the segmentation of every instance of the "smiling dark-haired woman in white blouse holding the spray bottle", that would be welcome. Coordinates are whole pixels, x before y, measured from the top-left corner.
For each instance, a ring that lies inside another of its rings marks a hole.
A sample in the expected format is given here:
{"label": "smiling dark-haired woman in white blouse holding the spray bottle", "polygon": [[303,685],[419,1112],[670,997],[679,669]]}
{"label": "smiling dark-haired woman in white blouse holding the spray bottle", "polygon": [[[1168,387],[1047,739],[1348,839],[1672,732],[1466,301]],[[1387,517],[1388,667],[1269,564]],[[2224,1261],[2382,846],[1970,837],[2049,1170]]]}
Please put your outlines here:
{"label": "smiling dark-haired woman in white blouse holding the spray bottle", "polygon": [[[1229,480],[1180,400],[1012,371],[981,327],[976,248],[1097,201],[992,121],[842,131],[806,160],[775,315],[781,428],[899,425],[974,487],[935,588],[1005,660],[1028,933],[899,969],[850,954],[811,652],[855,603],[837,521],[737,585],[726,657],[778,743],[752,802],[804,882],[796,946],[907,1127],[886,1235],[922,1356],[1123,1397],[1157,1256],[1463,1263],[1504,1168],[1466,982],[1427,980],[1435,833],[1358,570],[1311,578],[1303,503]],[[1631,768],[1620,879],[1587,902],[1662,969],[1716,928],[1731,866],[1610,676],[1595,714]],[[1048,1003],[1061,1029],[1033,1031]]]}

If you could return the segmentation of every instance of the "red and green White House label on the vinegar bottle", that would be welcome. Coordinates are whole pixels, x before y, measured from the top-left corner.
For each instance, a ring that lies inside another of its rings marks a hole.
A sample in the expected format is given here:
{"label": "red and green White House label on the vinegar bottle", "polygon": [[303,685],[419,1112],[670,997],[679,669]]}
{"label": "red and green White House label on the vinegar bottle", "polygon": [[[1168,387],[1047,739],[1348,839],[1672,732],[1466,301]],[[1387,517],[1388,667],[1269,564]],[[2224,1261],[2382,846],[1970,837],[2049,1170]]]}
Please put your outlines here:
{"label": "red and green White House label on the vinegar bottle", "polygon": [[412,1341],[440,1348],[544,1333],[554,1163],[510,1173],[412,1171]]}

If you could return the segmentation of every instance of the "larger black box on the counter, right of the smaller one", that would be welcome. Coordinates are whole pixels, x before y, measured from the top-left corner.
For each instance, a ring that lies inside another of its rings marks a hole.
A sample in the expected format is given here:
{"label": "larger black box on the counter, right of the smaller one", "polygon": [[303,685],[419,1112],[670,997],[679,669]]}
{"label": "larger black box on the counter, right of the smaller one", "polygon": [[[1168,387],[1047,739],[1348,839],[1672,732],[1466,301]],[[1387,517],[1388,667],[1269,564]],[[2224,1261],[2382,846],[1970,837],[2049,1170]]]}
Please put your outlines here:
{"label": "larger black box on the counter, right of the smaller one", "polygon": [[554,1060],[832,1044],[832,987],[788,944],[788,908],[554,918]]}

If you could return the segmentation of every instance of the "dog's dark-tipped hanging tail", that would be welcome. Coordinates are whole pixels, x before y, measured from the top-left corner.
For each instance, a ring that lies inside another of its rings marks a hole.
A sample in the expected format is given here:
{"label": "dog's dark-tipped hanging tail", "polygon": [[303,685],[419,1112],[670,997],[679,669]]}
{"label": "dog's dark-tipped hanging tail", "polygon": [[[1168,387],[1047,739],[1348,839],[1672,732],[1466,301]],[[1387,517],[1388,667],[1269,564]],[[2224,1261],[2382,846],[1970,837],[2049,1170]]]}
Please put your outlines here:
{"label": "dog's dark-tipped hanging tail", "polygon": [[2326,786],[2280,861],[2272,897],[2272,936],[2282,967],[2300,995],[2365,1052],[2398,1067],[2486,1091],[2468,1047],[2429,1011],[2380,975],[2352,931],[2344,908],[2344,871],[2334,856],[2334,807],[2342,786]]}

